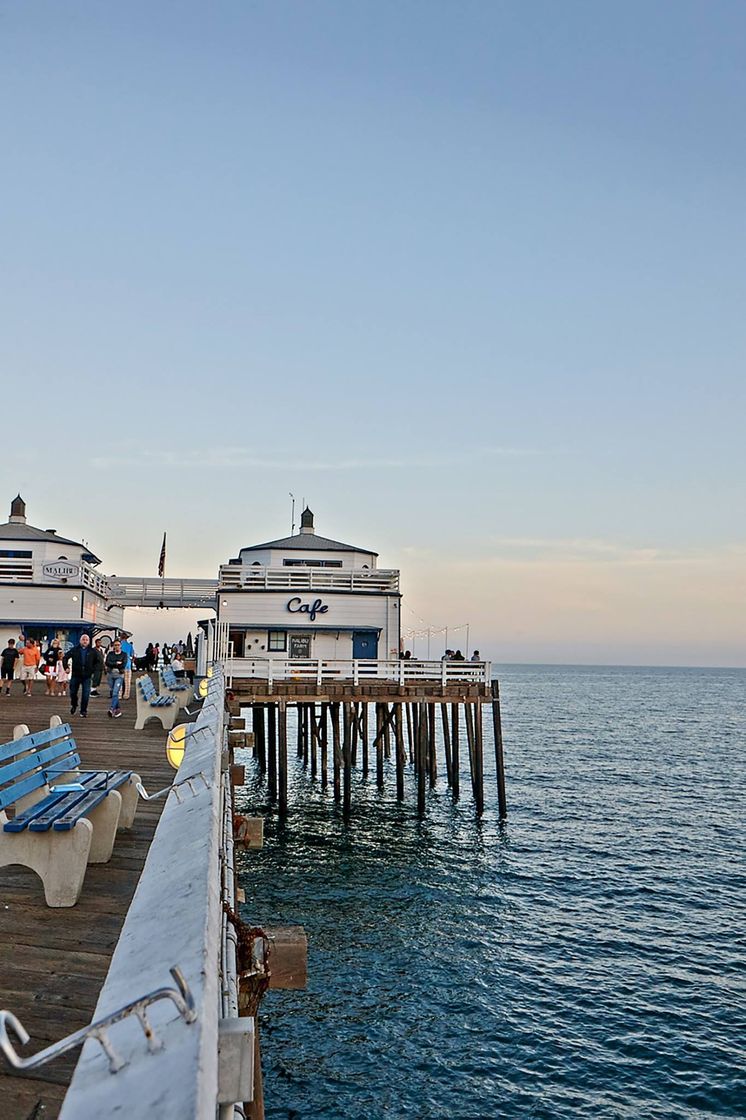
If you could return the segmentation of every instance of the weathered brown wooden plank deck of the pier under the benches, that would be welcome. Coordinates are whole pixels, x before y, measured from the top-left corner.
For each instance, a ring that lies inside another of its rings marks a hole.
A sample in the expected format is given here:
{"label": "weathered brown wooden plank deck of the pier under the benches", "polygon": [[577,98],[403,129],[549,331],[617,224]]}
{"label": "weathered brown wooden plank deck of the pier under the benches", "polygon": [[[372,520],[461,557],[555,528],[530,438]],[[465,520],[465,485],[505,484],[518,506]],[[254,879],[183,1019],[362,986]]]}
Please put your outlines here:
{"label": "weathered brown wooden plank deck of the pier under the benches", "polygon": [[[106,707],[105,694],[93,697],[87,719],[81,719],[69,716],[66,698],[40,690],[30,699],[3,696],[0,743],[12,738],[17,724],[37,731],[58,715],[73,726],[84,765],[133,769],[147,790],[162,788],[174,772],[160,724],[133,730],[134,696],[123,702],[119,720],[106,717]],[[134,827],[118,833],[111,861],[88,867],[76,906],[49,909],[32,871],[0,868],[0,1008],[17,1015],[30,1034],[29,1053],[91,1021],[162,806],[164,800],[139,803]],[[2,1120],[57,1117],[78,1055],[76,1049],[24,1076],[0,1056]]]}

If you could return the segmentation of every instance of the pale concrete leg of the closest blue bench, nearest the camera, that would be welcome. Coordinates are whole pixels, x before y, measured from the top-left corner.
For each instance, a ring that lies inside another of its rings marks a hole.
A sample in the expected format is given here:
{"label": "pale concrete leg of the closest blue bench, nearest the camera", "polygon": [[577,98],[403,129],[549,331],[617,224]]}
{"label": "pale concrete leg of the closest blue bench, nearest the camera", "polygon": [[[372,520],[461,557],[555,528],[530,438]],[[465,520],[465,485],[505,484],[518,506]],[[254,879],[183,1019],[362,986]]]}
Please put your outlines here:
{"label": "pale concrete leg of the closest blue bench, nearest the camera", "polygon": [[29,867],[44,884],[47,906],[74,906],[81,897],[93,825],[83,819],[69,832],[0,832],[0,867]]}

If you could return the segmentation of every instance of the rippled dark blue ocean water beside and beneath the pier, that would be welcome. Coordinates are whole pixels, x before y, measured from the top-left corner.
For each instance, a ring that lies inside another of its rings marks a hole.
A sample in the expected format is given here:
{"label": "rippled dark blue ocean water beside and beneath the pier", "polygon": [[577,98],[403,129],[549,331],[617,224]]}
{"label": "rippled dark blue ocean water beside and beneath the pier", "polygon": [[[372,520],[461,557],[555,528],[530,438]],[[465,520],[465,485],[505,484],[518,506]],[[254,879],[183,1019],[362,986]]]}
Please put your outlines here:
{"label": "rippled dark blue ocean water beside and beneath the pier", "polygon": [[268,1118],[745,1117],[746,671],[498,676],[503,825],[488,719],[481,823],[467,773],[418,821],[389,772],[345,824],[291,752],[241,855],[244,916],[309,937],[263,1002]]}

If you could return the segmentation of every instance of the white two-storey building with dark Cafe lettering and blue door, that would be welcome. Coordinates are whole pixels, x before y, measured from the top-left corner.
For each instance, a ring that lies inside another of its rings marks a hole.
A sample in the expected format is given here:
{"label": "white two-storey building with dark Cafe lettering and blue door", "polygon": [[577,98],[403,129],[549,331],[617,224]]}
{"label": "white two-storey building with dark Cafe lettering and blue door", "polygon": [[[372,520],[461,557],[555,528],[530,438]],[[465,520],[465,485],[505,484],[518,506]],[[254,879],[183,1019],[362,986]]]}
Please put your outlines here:
{"label": "white two-storey building with dark Cafe lettering and blue door", "polygon": [[217,622],[236,659],[395,659],[399,571],[372,549],[300,532],[241,549],[218,575]]}

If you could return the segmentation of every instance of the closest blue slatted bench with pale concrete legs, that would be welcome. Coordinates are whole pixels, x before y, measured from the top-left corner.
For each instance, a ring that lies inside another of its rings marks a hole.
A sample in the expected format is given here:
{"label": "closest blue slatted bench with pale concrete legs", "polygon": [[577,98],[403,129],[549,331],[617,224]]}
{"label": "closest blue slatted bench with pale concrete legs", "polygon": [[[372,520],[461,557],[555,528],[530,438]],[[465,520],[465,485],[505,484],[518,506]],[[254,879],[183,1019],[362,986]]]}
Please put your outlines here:
{"label": "closest blue slatted bench with pale concrete legs", "polygon": [[118,827],[131,824],[140,778],[82,771],[69,725],[54,721],[34,735],[20,725],[0,745],[0,867],[31,868],[48,906],[74,906],[87,865],[108,862]]}

